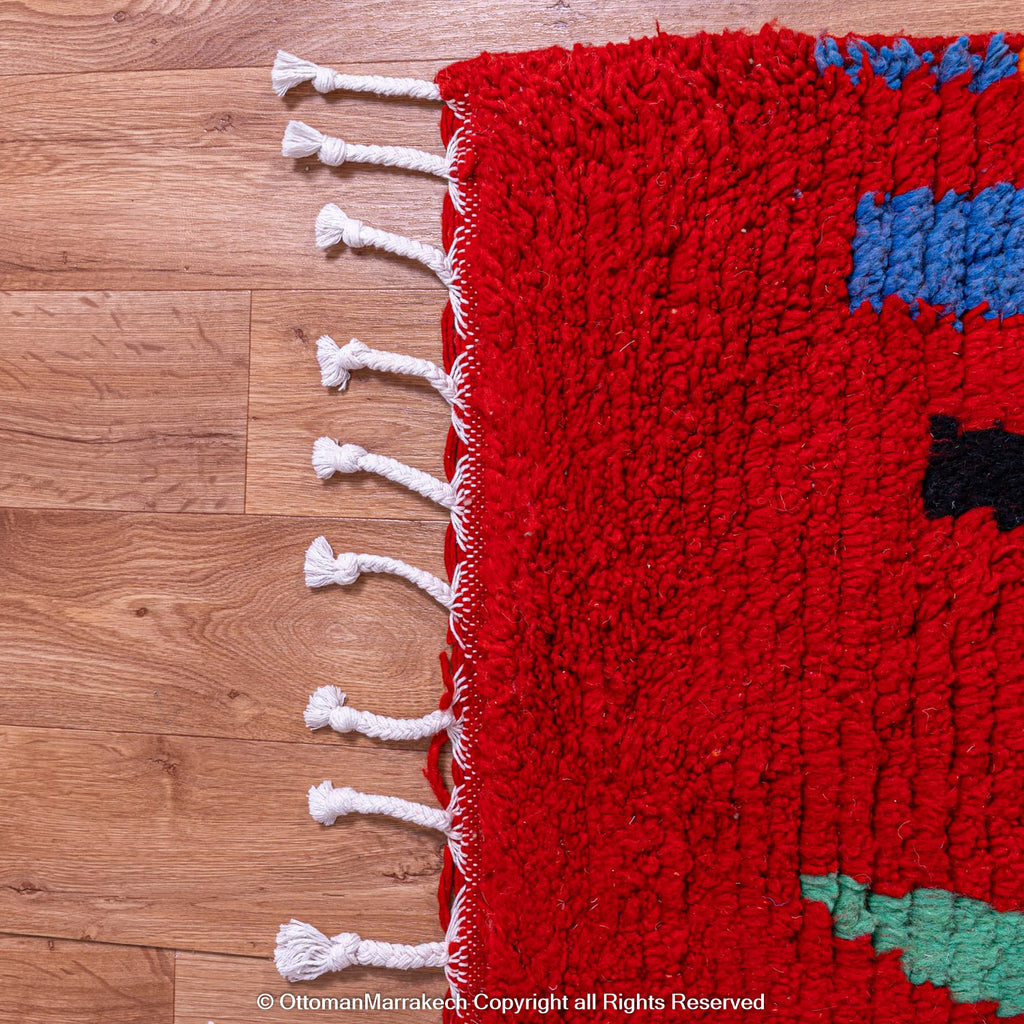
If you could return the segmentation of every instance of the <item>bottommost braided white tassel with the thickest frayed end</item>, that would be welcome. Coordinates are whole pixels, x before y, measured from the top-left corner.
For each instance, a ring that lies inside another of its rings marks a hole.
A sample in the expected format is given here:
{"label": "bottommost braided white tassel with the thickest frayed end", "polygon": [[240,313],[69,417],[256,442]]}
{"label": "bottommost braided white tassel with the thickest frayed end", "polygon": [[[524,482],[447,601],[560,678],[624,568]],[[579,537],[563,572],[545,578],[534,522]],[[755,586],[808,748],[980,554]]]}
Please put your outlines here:
{"label": "bottommost braided white tassel with the thickest frayed end", "polygon": [[294,918],[278,932],[273,963],[286,981],[312,981],[346,967],[387,967],[415,971],[447,964],[447,942],[421,942],[407,946],[360,939],[353,932],[328,938],[312,925]]}

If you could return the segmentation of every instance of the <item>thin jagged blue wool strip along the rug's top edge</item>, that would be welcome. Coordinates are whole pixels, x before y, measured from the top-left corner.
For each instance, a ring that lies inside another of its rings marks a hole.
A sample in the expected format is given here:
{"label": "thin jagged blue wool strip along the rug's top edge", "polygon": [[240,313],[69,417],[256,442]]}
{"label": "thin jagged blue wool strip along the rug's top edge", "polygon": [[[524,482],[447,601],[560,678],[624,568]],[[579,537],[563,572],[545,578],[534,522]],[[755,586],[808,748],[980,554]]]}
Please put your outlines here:
{"label": "thin jagged blue wool strip along the rug's top edge", "polygon": [[844,54],[835,39],[821,36],[814,48],[814,58],[822,75],[828,68],[841,68],[854,85],[860,81],[860,74],[866,66],[879,78],[884,78],[891,89],[898,89],[910,72],[927,65],[935,75],[937,86],[959,75],[970,75],[968,88],[972,92],[981,92],[993,82],[1016,75],[1018,63],[1018,54],[1007,45],[1001,32],[989,40],[984,56],[971,52],[967,36],[950,43],[942,54],[931,50],[918,53],[907,39],[896,39],[892,46],[881,48],[871,46],[864,39],[851,39]]}

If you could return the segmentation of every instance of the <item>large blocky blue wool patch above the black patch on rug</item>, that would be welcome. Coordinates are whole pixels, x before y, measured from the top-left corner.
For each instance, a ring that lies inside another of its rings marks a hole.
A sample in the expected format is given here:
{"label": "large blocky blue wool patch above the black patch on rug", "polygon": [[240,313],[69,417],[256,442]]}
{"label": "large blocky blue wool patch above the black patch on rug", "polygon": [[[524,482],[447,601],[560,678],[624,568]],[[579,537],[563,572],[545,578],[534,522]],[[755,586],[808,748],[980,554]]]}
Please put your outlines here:
{"label": "large blocky blue wool patch above the black patch on rug", "polygon": [[989,319],[1024,311],[1024,189],[983,188],[973,199],[931,188],[898,196],[866,193],[857,204],[850,309],[879,311],[897,295],[959,317],[987,304]]}

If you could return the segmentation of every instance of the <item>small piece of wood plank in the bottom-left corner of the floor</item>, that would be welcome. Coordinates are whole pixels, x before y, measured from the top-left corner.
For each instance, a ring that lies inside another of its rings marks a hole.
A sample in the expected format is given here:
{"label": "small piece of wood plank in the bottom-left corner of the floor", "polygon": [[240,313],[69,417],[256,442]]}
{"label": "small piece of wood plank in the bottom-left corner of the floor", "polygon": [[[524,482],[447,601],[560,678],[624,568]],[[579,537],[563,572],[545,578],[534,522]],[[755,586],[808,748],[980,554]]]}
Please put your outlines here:
{"label": "small piece of wood plank in the bottom-left corner of the floor", "polygon": [[163,949],[0,935],[0,1024],[171,1024],[174,963]]}

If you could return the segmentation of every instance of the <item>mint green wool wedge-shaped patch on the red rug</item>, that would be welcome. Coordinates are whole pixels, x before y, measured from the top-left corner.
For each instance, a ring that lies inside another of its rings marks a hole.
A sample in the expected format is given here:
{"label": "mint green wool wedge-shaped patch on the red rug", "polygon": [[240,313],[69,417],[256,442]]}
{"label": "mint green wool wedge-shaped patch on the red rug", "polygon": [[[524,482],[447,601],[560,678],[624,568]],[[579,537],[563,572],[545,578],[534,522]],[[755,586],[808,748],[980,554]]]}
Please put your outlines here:
{"label": "mint green wool wedge-shaped patch on the red rug", "polygon": [[902,950],[914,985],[941,985],[955,1002],[997,1002],[997,1017],[1024,1013],[1024,913],[945,889],[882,896],[848,874],[800,883],[804,899],[828,908],[841,939],[869,935],[876,952]]}

